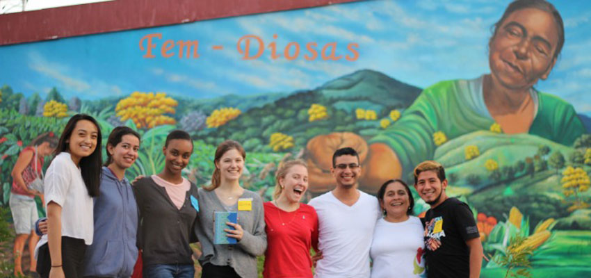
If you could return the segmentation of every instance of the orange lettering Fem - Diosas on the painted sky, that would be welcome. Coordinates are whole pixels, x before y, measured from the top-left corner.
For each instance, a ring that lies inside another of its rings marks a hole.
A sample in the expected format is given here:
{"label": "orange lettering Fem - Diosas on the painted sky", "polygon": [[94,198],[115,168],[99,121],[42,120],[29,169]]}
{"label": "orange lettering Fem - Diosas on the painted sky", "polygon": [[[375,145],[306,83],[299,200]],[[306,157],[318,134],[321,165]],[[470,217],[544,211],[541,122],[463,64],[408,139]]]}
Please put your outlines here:
{"label": "orange lettering Fem - Diosas on the painted sky", "polygon": [[[159,44],[159,40],[162,40],[162,33],[152,33],[143,36],[140,39],[140,50],[144,51],[143,58],[156,58],[157,51],[152,51],[159,47],[160,56],[163,58],[171,58],[177,54],[178,58],[199,58],[199,41],[198,40],[165,40]],[[277,34],[273,35],[273,40],[277,40]],[[277,58],[285,58],[286,60],[295,60],[303,58],[305,60],[316,60],[321,58],[322,60],[341,60],[345,59],[348,61],[355,61],[359,58],[359,44],[356,42],[350,42],[346,45],[347,54],[339,54],[337,42],[328,42],[323,46],[318,46],[316,42],[307,42],[303,46],[298,42],[289,42],[283,47],[283,54],[278,54],[277,42],[270,42],[265,46],[265,42],[258,35],[243,35],[238,42],[236,42],[236,50],[241,54],[242,60],[254,60],[257,59],[265,51],[270,55],[272,60]],[[222,50],[222,45],[213,45],[213,50]]]}

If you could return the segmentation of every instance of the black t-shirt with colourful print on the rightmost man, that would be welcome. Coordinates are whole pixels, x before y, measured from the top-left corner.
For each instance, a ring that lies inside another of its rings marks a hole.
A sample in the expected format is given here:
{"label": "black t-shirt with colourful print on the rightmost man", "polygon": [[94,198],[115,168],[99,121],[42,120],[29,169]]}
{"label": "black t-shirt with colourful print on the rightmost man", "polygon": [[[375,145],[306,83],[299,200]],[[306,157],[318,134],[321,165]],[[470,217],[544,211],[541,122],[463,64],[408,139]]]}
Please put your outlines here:
{"label": "black t-shirt with colourful print on the rightmost man", "polygon": [[428,210],[424,221],[428,277],[469,277],[470,250],[466,241],[480,236],[469,206],[448,198]]}

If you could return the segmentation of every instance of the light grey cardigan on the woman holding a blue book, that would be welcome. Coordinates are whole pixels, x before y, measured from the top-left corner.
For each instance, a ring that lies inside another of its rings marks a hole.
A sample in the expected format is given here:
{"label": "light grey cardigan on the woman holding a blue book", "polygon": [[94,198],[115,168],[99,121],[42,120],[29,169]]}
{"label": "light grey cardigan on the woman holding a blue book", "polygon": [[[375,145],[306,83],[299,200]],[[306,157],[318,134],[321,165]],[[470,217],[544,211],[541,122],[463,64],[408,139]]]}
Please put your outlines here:
{"label": "light grey cardigan on the woman holding a blue book", "polygon": [[256,278],[257,256],[265,253],[265,215],[263,201],[257,193],[244,190],[241,198],[252,198],[252,211],[238,211],[238,224],[244,229],[242,239],[236,245],[213,244],[213,212],[226,211],[215,192],[199,188],[199,224],[195,225],[203,254],[199,263],[229,265],[242,278]]}

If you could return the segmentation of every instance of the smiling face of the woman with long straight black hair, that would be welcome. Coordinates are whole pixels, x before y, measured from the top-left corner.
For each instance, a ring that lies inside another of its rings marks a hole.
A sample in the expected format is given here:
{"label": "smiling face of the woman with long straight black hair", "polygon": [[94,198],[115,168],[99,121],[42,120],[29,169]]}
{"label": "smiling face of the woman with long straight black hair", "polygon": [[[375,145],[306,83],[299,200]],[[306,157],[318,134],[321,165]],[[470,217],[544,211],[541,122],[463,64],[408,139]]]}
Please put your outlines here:
{"label": "smiling face of the woman with long straight black hair", "polygon": [[74,126],[74,131],[67,140],[68,152],[72,161],[79,163],[80,159],[90,156],[97,148],[99,129],[89,120],[79,120]]}

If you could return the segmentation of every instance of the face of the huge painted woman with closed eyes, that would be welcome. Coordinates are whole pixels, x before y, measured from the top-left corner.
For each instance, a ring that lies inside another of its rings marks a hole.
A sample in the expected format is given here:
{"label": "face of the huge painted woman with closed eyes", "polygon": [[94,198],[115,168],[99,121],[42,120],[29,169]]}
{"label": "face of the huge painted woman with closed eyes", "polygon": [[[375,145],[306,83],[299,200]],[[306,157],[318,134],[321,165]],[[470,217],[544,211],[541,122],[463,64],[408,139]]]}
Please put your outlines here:
{"label": "face of the huge painted woman with closed eyes", "polygon": [[496,85],[526,90],[547,79],[556,58],[558,26],[550,13],[526,8],[511,13],[489,42],[489,66]]}

